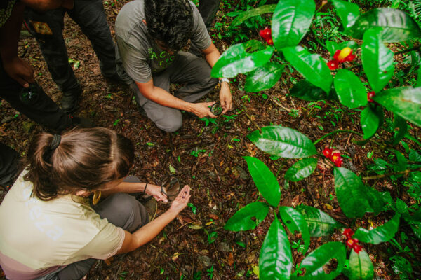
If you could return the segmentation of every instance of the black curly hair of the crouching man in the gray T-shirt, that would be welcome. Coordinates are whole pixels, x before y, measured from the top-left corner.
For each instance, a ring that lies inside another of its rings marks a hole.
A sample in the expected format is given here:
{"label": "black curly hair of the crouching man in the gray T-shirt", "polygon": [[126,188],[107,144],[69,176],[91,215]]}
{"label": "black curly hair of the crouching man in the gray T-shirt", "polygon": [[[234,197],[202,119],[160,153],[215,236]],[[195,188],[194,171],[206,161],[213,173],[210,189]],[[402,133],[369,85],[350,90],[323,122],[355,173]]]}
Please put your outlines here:
{"label": "black curly hair of the crouching man in the gray T-shirt", "polygon": [[145,20],[149,35],[175,52],[192,36],[193,10],[187,0],[145,0]]}

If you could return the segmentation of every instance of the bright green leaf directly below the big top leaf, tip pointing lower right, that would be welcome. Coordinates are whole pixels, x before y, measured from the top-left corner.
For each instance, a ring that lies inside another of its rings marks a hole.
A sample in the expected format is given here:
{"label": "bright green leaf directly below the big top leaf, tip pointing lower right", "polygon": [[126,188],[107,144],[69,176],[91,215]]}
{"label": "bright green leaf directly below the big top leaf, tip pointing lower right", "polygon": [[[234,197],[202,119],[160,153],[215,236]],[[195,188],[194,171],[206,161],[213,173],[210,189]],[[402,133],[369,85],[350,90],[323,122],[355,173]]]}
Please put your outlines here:
{"label": "bright green leaf directly below the big top leaf, tip pointing lower right", "polygon": [[[282,3],[283,1],[279,1]],[[330,92],[332,75],[330,69],[320,55],[311,54],[300,45],[296,47],[283,48],[285,59],[297,69],[310,83],[321,87],[326,93]]]}

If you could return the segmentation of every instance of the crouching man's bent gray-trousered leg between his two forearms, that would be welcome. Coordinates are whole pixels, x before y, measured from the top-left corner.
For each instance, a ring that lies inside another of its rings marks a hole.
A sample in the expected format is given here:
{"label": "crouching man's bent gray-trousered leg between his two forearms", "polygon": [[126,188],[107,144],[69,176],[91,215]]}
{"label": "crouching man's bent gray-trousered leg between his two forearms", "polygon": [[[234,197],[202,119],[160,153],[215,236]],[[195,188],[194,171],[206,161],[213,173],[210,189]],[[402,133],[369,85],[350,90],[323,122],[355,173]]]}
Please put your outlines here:
{"label": "crouching man's bent gray-trousered leg between his two forearms", "polygon": [[218,79],[210,77],[208,62],[189,52],[178,52],[173,64],[168,67],[171,83],[186,83],[174,92],[175,97],[186,102],[196,102],[211,92]]}

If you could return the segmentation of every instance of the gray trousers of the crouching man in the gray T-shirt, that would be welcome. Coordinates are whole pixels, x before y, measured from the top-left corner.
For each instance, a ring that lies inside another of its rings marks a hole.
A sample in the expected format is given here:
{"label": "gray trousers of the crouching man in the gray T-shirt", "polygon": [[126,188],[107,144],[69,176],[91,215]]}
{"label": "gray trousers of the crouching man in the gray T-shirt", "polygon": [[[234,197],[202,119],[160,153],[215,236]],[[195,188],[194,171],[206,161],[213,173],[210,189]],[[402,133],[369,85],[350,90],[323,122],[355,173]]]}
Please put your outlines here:
{"label": "gray trousers of the crouching man in the gray T-shirt", "polygon": [[[175,90],[174,96],[186,102],[195,102],[213,90],[218,80],[210,77],[208,62],[189,52],[178,52],[173,64],[152,78],[156,87],[170,91],[170,83],[182,83],[185,86]],[[145,110],[157,127],[166,132],[175,132],[182,125],[181,112],[178,109],[162,106],[144,97],[135,83],[131,84],[136,102]]]}

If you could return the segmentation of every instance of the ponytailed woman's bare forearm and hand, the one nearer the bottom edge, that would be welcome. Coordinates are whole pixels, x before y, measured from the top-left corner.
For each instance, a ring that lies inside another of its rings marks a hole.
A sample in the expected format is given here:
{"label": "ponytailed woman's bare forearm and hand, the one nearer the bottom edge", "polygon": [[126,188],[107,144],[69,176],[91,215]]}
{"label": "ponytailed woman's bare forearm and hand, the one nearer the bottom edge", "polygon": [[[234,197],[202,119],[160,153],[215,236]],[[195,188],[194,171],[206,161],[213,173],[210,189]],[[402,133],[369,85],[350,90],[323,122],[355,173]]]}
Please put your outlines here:
{"label": "ponytailed woman's bare forearm and hand, the one nearer the bottom edge", "polygon": [[136,230],[133,232],[133,234],[126,231],[123,245],[117,254],[131,252],[151,241],[154,237],[156,237],[156,235],[159,234],[159,232],[161,232],[161,230],[166,225],[168,225],[168,223],[173,221],[173,219],[182,211],[182,209],[185,209],[189,199],[190,188],[186,185],[184,188],[182,188],[180,194],[175,198],[168,211],[156,218],[154,221],[142,226],[142,228]]}

